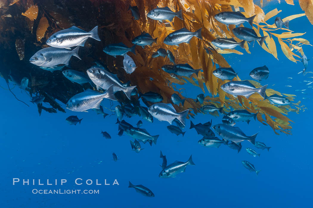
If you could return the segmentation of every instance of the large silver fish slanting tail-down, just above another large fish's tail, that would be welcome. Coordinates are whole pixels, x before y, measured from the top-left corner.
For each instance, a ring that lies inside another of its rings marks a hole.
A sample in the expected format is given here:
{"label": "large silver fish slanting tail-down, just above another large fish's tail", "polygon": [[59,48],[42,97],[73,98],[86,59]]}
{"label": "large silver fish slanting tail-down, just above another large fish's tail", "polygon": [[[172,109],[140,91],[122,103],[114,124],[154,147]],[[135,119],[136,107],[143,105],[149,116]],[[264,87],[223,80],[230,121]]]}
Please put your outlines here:
{"label": "large silver fish slanting tail-down, just above another large fish's tail", "polygon": [[117,91],[123,91],[128,99],[131,99],[131,93],[136,87],[124,87],[115,74],[111,74],[103,68],[90,68],[87,70],[87,74],[91,81],[97,86],[97,89],[108,89],[113,85],[114,93]]}

